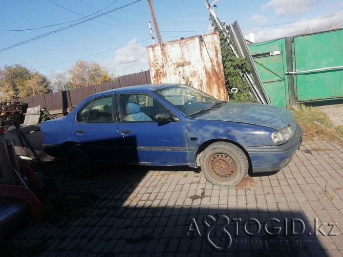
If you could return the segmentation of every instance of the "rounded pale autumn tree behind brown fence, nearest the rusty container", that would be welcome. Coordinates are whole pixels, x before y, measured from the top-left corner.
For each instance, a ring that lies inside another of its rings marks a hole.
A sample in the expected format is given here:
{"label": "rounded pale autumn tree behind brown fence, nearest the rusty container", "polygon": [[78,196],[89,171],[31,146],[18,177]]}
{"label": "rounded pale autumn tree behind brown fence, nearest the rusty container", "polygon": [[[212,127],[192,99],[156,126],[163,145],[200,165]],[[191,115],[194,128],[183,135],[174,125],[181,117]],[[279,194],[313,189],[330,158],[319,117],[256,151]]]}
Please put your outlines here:
{"label": "rounded pale autumn tree behind brown fence, nearest the rusty container", "polygon": [[116,77],[97,62],[77,61],[68,71],[73,87],[80,88],[115,80]]}

